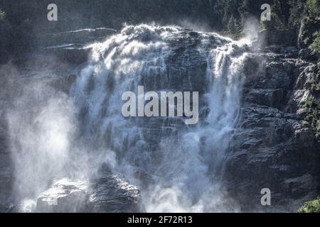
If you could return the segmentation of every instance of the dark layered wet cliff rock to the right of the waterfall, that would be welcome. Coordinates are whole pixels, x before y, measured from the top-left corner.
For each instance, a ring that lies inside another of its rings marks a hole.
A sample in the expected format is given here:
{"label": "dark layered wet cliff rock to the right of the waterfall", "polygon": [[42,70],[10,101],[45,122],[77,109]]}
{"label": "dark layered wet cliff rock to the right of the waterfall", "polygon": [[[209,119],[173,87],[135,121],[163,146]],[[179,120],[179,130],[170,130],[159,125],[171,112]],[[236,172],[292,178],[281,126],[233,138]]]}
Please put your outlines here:
{"label": "dark layered wet cliff rock to the right of the waterfall", "polygon": [[[296,211],[320,189],[319,143],[300,109],[310,96],[315,65],[272,48],[257,54],[264,60],[248,60],[257,70],[247,71],[225,162],[226,184],[243,211]],[[263,188],[272,192],[269,208],[260,204]]]}

